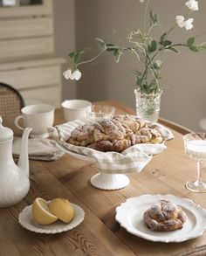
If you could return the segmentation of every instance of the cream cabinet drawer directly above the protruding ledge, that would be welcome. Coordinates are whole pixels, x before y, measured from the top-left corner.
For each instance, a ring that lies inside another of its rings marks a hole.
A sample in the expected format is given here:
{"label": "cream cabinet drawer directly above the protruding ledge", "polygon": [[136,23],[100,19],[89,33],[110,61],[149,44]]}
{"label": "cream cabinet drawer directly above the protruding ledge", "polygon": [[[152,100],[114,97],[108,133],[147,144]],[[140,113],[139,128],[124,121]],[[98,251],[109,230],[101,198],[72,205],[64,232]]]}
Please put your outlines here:
{"label": "cream cabinet drawer directly above the protruding ledge", "polygon": [[3,40],[0,42],[0,56],[3,59],[17,57],[34,57],[52,53],[54,50],[52,37]]}

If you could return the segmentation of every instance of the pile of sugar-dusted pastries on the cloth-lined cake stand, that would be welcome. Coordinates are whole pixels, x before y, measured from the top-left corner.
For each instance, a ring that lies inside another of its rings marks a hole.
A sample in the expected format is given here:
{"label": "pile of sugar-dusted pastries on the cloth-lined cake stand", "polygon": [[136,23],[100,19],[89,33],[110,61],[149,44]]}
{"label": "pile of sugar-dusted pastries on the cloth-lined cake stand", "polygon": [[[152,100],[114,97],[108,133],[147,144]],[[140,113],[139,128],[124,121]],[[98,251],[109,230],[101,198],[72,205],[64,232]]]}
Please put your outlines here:
{"label": "pile of sugar-dusted pastries on the cloth-lined cake stand", "polygon": [[161,134],[154,128],[148,128],[145,121],[126,114],[74,128],[66,142],[103,152],[121,152],[137,143],[162,141]]}

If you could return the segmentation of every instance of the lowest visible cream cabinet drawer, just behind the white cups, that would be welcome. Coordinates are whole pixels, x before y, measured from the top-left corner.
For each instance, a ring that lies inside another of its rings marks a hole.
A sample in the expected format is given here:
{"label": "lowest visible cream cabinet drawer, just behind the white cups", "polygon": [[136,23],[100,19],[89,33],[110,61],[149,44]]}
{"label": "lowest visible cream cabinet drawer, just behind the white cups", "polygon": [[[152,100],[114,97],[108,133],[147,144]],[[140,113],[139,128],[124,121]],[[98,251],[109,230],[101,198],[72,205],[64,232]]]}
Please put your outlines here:
{"label": "lowest visible cream cabinet drawer, just behind the white cups", "polygon": [[37,88],[33,90],[20,91],[25,105],[32,104],[51,104],[54,107],[60,107],[61,103],[61,88],[60,86],[49,86],[46,88]]}

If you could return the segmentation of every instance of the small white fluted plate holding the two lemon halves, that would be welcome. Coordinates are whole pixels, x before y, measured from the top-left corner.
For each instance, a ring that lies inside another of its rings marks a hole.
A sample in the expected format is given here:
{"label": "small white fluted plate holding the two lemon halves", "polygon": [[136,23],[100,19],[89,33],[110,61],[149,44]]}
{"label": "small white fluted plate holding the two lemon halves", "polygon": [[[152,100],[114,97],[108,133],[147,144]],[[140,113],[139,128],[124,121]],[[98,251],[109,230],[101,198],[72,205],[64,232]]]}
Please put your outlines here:
{"label": "small white fluted plate holding the two lemon halves", "polygon": [[39,225],[32,218],[31,206],[32,205],[26,206],[18,216],[19,223],[23,225],[24,228],[28,229],[31,232],[47,233],[47,234],[66,232],[76,227],[77,225],[79,225],[85,217],[85,211],[83,211],[83,209],[80,208],[77,204],[72,204],[74,209],[74,218],[72,219],[71,223],[65,224],[64,222],[57,220],[51,225]]}

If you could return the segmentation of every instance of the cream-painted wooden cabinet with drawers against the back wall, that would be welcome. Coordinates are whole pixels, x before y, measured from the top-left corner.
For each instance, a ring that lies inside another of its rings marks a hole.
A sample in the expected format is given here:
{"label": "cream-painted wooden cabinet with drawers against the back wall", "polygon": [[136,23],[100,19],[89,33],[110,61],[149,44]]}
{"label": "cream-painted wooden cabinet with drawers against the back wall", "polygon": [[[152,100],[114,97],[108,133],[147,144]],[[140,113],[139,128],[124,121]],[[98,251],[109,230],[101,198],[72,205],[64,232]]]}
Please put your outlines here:
{"label": "cream-painted wooden cabinet with drawers against the back wall", "polygon": [[52,0],[28,2],[0,6],[0,82],[17,88],[26,105],[60,107],[65,60],[54,55]]}

